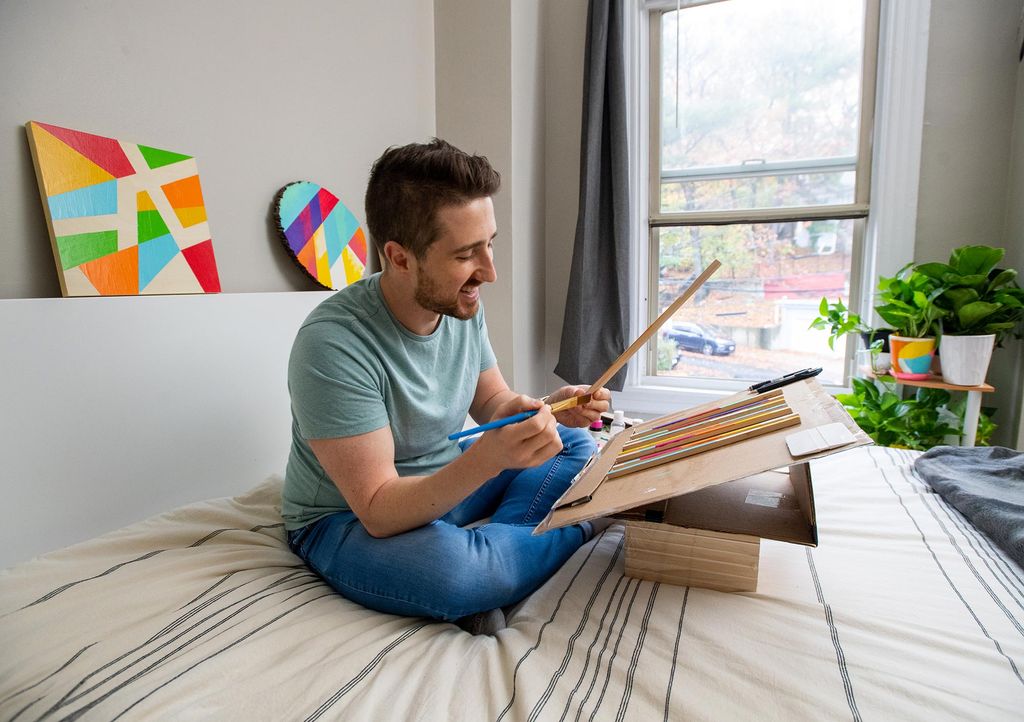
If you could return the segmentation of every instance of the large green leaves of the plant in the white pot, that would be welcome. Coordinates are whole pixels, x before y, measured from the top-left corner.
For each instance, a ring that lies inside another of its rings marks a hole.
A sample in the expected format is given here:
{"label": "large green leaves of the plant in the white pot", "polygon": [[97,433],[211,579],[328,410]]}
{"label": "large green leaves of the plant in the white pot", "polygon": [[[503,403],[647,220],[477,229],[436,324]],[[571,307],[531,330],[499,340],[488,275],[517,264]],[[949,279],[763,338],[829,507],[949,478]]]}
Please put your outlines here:
{"label": "large green leaves of the plant in the white pot", "polygon": [[1021,338],[1024,289],[1017,284],[1016,270],[997,267],[1005,253],[990,246],[962,246],[950,254],[948,263],[914,267],[940,290],[934,302],[943,313],[943,333],[994,334],[999,346],[1008,336]]}

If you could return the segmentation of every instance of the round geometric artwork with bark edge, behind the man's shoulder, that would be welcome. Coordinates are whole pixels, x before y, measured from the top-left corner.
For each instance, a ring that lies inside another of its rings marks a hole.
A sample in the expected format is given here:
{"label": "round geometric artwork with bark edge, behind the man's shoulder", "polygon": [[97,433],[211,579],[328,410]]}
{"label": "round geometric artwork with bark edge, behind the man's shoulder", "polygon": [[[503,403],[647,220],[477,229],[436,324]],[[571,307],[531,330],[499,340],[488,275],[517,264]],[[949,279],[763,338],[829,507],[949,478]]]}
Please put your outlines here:
{"label": "round geometric artwork with bark edge, behind the man's shoulder", "polygon": [[285,249],[317,284],[337,291],[362,278],[367,237],[333,193],[307,180],[289,183],[274,196],[273,217]]}

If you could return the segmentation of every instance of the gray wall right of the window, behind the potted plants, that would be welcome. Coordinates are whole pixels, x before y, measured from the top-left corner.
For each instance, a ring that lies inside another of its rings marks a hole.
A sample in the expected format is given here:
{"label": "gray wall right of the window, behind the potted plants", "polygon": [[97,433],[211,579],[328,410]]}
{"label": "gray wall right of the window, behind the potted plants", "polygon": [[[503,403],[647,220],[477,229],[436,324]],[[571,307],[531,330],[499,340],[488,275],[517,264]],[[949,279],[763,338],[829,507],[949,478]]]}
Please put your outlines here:
{"label": "gray wall right of the window, behind the potted plants", "polygon": [[[957,246],[984,244],[1006,248],[1006,265],[1024,272],[1019,167],[1011,185],[1024,123],[1019,98],[1015,107],[1021,7],[932,0],[913,260],[945,261]],[[1006,445],[1019,444],[1020,355],[1018,342],[995,350],[988,382],[998,393],[982,401],[998,410],[994,442]]]}

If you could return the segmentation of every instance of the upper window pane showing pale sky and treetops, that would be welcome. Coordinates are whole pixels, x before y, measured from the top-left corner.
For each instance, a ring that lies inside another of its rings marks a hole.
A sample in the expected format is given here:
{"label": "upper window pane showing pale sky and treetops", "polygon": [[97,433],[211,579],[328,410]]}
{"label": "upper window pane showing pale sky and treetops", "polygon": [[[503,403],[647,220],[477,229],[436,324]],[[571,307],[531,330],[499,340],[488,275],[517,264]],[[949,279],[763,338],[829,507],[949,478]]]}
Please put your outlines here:
{"label": "upper window pane showing pale sky and treetops", "polygon": [[853,201],[863,0],[730,0],[662,18],[660,169],[675,186],[663,211]]}

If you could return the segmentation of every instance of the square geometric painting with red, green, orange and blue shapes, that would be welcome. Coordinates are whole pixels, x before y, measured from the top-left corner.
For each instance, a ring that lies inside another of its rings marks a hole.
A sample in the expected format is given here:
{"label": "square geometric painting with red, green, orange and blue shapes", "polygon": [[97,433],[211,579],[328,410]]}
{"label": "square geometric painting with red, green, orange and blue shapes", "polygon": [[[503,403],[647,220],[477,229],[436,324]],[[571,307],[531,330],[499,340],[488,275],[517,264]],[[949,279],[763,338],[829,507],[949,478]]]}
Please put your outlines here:
{"label": "square geometric painting with red, green, orange and blue shapes", "polygon": [[63,296],[220,291],[195,158],[26,128]]}

